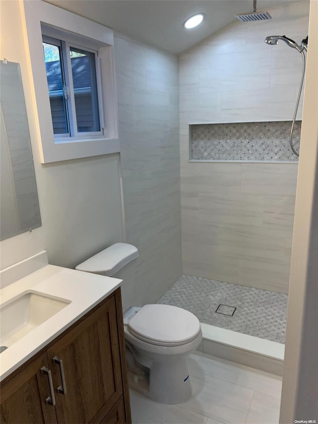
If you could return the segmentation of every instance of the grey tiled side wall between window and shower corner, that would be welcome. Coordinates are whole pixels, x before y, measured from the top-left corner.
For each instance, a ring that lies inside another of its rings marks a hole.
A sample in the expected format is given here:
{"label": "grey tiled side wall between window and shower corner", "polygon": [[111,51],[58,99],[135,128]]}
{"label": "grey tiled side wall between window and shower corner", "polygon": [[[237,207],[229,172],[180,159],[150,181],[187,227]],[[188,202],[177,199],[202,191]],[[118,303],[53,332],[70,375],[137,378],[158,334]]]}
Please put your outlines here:
{"label": "grey tiled side wall between window and shower corner", "polygon": [[177,58],[115,37],[127,242],[135,245],[136,306],[182,274]]}

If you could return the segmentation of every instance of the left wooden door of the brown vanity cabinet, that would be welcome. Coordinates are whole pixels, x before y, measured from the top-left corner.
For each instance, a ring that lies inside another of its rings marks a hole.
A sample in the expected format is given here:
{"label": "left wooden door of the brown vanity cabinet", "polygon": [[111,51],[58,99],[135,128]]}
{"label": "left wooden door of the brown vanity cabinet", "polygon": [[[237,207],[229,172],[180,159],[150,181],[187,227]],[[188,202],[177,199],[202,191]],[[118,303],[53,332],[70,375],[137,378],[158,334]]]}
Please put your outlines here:
{"label": "left wooden door of the brown vanity cabinet", "polygon": [[45,400],[51,396],[48,367],[43,353],[1,387],[1,423],[56,423],[55,408]]}

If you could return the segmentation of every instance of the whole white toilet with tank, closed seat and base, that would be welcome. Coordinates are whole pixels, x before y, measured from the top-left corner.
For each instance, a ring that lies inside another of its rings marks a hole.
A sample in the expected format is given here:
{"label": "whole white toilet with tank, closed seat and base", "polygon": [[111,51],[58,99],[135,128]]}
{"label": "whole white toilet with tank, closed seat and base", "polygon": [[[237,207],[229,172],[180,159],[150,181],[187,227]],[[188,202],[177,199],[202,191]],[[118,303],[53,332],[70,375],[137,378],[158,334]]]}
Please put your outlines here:
{"label": "whole white toilet with tank, closed seat and base", "polygon": [[185,402],[191,396],[186,360],[202,340],[200,322],[191,312],[176,306],[132,306],[137,303],[133,283],[138,256],[135,246],[116,243],[80,263],[76,269],[123,280],[130,387],[157,402]]}

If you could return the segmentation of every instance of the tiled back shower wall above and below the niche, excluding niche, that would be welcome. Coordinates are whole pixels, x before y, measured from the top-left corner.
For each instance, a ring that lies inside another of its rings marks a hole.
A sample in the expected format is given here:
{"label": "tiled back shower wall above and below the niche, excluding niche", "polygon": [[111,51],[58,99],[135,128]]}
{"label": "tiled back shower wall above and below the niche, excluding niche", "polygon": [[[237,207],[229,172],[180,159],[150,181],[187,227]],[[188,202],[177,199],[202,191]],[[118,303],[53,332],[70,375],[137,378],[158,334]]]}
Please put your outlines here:
{"label": "tiled back shower wall above and below the niche, excluding niche", "polygon": [[[189,163],[189,124],[291,120],[309,2],[225,27],[180,55],[183,273],[288,292],[297,164]],[[301,118],[302,102],[298,118]]]}

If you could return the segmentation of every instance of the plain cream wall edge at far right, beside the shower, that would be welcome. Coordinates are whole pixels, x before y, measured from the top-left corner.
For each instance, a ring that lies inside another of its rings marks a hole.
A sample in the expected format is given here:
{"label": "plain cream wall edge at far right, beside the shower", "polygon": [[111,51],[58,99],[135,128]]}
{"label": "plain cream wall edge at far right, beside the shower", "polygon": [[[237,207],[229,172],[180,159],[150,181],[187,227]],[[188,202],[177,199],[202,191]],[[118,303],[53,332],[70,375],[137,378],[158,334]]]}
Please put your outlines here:
{"label": "plain cream wall edge at far right, beside the shower", "polygon": [[318,1],[311,2],[280,423],[318,420]]}

